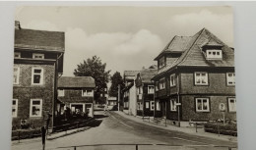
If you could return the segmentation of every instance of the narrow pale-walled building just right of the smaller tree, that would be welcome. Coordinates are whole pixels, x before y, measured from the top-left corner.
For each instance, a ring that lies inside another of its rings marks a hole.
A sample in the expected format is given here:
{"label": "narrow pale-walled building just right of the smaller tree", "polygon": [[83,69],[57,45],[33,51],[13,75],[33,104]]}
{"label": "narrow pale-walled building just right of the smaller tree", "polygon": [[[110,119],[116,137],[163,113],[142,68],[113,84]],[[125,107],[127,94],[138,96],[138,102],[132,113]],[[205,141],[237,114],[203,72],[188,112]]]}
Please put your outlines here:
{"label": "narrow pale-walled building just right of the smaller tree", "polygon": [[123,79],[123,112],[129,115],[137,115],[137,98],[135,79],[140,71],[124,71]]}

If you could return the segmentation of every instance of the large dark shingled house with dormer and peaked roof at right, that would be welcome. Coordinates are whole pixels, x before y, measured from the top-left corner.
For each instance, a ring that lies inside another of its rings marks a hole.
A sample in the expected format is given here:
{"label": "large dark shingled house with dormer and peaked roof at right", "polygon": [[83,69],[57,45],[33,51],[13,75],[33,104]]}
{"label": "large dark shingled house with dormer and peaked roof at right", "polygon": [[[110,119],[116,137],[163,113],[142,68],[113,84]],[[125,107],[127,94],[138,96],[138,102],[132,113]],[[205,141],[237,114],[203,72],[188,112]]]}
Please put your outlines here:
{"label": "large dark shingled house with dormer and peaked roof at right", "polygon": [[174,36],[155,61],[155,117],[173,125],[218,120],[223,113],[236,120],[234,50],[208,29]]}

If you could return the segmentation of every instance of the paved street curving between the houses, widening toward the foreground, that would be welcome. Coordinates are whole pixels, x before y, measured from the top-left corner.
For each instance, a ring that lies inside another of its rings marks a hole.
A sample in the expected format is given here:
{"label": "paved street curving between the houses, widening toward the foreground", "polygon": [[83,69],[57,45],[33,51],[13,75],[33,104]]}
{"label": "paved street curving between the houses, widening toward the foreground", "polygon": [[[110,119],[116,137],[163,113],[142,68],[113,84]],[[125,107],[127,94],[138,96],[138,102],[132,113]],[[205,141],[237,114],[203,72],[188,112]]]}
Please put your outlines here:
{"label": "paved street curving between the houses, widening toward the foreground", "polygon": [[[152,125],[144,125],[127,120],[114,112],[106,116],[103,112],[96,112],[98,126],[65,137],[46,141],[46,149],[56,149],[72,145],[86,144],[168,144],[176,146],[139,146],[139,150],[227,150],[226,147],[212,147],[212,145],[234,146],[232,142],[215,140],[156,128]],[[100,124],[100,125],[99,125]],[[184,145],[184,146],[179,146]],[[207,147],[206,147],[207,146]],[[14,142],[13,150],[37,150],[41,149],[40,139],[24,140],[22,143]],[[60,148],[59,150],[73,150],[74,148]],[[78,147],[77,150],[135,150],[133,145],[122,146],[95,146]]]}

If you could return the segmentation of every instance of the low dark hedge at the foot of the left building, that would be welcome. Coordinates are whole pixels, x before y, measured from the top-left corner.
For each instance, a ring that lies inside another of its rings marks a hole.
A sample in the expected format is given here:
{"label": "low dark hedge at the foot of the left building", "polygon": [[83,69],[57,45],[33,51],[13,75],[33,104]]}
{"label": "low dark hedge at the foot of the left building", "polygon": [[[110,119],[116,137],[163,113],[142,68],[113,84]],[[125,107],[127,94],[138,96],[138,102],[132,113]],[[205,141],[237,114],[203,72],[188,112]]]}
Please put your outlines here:
{"label": "low dark hedge at the foot of the left building", "polygon": [[12,140],[18,140],[19,136],[20,136],[20,139],[38,137],[38,136],[41,136],[41,129],[36,128],[36,129],[12,130]]}

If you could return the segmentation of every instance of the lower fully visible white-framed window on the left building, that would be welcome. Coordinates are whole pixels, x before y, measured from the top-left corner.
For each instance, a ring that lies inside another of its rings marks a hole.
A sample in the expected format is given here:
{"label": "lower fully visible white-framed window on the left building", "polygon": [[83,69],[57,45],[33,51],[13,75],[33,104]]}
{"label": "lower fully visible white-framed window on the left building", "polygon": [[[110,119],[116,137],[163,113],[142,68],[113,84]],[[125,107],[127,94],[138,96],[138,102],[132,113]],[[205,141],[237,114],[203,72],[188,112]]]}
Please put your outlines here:
{"label": "lower fully visible white-framed window on the left building", "polygon": [[32,99],[31,101],[31,117],[41,117],[42,112],[42,102],[41,99]]}

